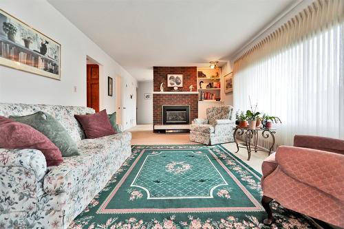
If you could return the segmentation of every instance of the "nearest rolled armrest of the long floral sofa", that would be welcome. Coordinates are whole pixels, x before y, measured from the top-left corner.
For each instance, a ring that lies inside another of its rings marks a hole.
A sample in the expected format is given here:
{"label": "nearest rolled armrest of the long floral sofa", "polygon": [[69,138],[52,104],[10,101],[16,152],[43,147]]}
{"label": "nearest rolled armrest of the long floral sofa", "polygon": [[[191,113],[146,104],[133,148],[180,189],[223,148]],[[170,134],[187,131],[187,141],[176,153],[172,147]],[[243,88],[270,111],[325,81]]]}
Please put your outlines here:
{"label": "nearest rolled armrest of the long floral sofa", "polygon": [[36,149],[0,149],[0,215],[36,209],[47,171],[43,153]]}

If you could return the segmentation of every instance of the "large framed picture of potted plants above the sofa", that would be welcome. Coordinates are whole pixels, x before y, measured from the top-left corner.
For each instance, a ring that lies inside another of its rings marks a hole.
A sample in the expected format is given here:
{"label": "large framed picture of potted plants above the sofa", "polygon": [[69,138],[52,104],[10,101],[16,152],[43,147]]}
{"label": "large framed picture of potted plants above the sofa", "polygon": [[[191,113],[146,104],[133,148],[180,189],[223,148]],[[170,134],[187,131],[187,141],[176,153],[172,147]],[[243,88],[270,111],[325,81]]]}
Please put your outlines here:
{"label": "large framed picture of potted plants above the sofa", "polygon": [[61,80],[61,44],[0,9],[0,65]]}

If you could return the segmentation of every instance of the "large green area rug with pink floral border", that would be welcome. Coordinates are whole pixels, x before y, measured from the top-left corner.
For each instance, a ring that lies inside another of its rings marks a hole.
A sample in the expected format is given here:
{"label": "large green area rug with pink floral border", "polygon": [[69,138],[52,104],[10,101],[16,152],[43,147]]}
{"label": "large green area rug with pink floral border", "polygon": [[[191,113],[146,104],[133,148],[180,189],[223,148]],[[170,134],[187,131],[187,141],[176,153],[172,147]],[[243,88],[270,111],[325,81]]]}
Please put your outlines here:
{"label": "large green area rug with pink floral border", "polygon": [[[270,228],[261,175],[221,145],[133,146],[69,228]],[[272,203],[272,228],[314,228]]]}

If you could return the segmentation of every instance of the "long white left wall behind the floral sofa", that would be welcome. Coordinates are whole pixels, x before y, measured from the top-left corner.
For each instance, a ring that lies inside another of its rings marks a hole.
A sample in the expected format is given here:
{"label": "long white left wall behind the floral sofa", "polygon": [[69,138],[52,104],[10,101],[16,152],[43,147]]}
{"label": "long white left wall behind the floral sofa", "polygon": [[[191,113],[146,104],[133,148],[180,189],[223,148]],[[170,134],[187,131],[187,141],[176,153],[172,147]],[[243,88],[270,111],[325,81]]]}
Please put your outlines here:
{"label": "long white left wall behind the floral sofa", "polygon": [[[0,66],[0,102],[86,106],[86,56],[100,63],[100,109],[116,107],[115,96],[107,96],[107,76],[121,76],[136,89],[135,78],[47,1],[1,0],[0,8],[61,44],[61,80]],[[134,126],[136,102],[127,109]]]}

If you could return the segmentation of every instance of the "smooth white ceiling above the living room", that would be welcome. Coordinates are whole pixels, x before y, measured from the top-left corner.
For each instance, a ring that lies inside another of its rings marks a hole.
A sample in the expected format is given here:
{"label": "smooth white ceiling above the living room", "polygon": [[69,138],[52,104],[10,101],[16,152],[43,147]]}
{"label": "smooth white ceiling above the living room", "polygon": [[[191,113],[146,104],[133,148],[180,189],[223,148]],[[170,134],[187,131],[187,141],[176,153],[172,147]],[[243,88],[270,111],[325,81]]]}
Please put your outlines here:
{"label": "smooth white ceiling above the living room", "polygon": [[48,0],[138,80],[227,60],[295,0]]}

